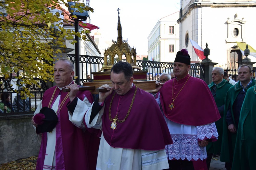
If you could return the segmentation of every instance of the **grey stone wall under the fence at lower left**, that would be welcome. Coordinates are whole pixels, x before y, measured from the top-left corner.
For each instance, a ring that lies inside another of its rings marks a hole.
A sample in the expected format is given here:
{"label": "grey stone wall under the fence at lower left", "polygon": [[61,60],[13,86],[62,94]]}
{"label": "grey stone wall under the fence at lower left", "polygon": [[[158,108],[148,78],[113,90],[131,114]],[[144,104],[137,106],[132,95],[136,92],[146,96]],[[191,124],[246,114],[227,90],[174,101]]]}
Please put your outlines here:
{"label": "grey stone wall under the fence at lower left", "polygon": [[32,116],[0,116],[0,164],[38,155],[40,143],[31,123]]}

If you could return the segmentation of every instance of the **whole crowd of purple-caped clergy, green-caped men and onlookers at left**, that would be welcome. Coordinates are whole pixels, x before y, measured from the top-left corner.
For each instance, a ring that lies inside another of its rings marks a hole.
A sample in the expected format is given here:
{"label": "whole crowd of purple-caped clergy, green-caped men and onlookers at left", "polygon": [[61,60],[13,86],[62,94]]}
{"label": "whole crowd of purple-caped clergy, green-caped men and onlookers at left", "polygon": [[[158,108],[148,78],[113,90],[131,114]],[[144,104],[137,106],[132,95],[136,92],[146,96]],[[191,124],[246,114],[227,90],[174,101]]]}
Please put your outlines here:
{"label": "whole crowd of purple-caped clergy, green-caped men and onlookers at left", "polygon": [[[45,91],[31,118],[41,142],[36,169],[208,170],[218,154],[227,170],[254,169],[251,67],[238,68],[238,82],[214,67],[209,85],[189,70],[190,56],[182,49],[152,95],[133,83],[132,66],[119,61],[110,71],[112,86],[102,85],[105,92],[94,100],[73,81],[73,63],[60,58],[56,86]],[[10,95],[1,100],[2,110],[15,111]]]}

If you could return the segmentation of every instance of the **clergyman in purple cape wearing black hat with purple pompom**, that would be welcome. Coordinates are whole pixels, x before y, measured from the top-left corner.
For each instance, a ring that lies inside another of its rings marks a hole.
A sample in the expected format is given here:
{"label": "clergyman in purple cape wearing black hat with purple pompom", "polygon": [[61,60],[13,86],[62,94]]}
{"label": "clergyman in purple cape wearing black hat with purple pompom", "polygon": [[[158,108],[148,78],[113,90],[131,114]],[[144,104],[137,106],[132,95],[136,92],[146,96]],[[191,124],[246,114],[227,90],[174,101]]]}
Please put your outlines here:
{"label": "clergyman in purple cape wearing black hat with purple pompom", "polygon": [[173,66],[175,79],[160,88],[156,99],[175,141],[166,146],[169,166],[179,170],[206,170],[205,147],[208,141],[217,140],[214,122],[221,116],[207,84],[188,74],[190,56],[186,49],[177,52]]}

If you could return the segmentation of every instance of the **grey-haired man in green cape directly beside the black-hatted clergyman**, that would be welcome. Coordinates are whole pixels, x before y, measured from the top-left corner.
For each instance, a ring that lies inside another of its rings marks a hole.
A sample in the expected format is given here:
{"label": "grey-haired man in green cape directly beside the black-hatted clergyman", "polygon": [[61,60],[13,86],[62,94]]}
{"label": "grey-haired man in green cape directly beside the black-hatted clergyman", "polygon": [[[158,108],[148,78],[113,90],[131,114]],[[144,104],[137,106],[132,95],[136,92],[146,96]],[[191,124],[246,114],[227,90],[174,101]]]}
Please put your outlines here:
{"label": "grey-haired man in green cape directly beside the black-hatted clergyman", "polygon": [[217,131],[218,131],[218,140],[216,142],[209,142],[206,147],[207,150],[207,168],[210,168],[211,160],[213,154],[220,155],[221,153],[221,143],[222,143],[222,133],[223,133],[223,112],[225,97],[228,89],[232,86],[229,82],[223,79],[224,70],[221,67],[214,67],[212,69],[212,83],[208,85],[210,88],[213,98],[218,107],[219,114],[221,119],[215,122]]}

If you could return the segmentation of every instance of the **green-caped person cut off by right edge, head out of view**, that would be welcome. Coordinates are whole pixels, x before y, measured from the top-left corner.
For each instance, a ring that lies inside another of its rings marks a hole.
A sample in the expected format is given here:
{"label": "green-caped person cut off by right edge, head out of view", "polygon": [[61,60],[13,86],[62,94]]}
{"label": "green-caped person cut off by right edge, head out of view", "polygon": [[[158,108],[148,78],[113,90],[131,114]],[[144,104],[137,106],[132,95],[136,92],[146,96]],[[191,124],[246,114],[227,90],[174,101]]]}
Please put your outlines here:
{"label": "green-caped person cut off by right edge, head out of view", "polygon": [[246,92],[238,123],[232,170],[255,169],[256,85]]}

